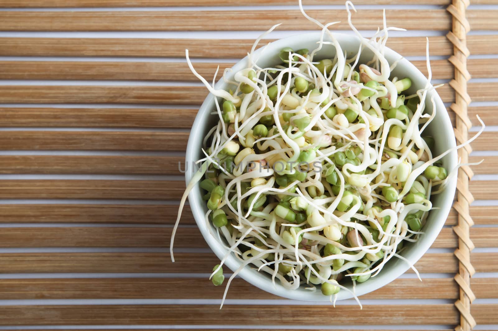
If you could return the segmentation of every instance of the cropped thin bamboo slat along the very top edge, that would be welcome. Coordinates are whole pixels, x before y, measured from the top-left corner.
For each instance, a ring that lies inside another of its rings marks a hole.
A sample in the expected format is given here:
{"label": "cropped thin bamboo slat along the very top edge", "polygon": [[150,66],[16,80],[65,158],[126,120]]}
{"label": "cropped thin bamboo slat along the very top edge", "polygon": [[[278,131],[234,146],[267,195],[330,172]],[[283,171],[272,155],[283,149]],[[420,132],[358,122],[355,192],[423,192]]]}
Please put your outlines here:
{"label": "cropped thin bamboo slat along the very top edge", "polygon": [[[485,2],[486,0],[475,1]],[[295,5],[295,0],[281,0],[279,5]],[[252,0],[251,5],[267,5],[268,1],[265,0]],[[306,0],[303,1],[304,5],[330,5],[330,4],[344,4],[342,0]],[[372,4],[371,0],[356,0],[355,4]],[[434,0],[434,1],[417,1],[417,0],[377,0],[375,4],[449,4],[448,0]],[[189,0],[189,1],[176,1],[176,0],[68,0],[61,3],[57,0],[4,0],[0,2],[0,7],[7,8],[45,8],[45,7],[174,7],[174,6],[243,6],[247,5],[245,2],[234,2],[231,0]]]}

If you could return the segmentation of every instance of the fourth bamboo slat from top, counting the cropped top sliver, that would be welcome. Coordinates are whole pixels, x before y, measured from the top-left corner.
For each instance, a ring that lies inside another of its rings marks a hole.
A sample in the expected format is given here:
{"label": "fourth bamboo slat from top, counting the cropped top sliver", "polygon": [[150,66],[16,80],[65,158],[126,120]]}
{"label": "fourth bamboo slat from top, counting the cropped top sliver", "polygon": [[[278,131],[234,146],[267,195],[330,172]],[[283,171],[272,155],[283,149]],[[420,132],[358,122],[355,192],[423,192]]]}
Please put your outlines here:
{"label": "fourth bamboo slat from top, counting the cropped top sliver", "polygon": [[[425,61],[411,61],[427,75]],[[194,63],[202,76],[212,77],[220,66],[217,79],[224,68],[235,62]],[[471,59],[468,63],[473,78],[498,77],[498,59]],[[453,78],[453,65],[448,60],[431,61],[433,79]],[[0,61],[1,79],[55,79],[55,80],[159,80],[199,81],[185,62],[97,62],[97,61]]]}

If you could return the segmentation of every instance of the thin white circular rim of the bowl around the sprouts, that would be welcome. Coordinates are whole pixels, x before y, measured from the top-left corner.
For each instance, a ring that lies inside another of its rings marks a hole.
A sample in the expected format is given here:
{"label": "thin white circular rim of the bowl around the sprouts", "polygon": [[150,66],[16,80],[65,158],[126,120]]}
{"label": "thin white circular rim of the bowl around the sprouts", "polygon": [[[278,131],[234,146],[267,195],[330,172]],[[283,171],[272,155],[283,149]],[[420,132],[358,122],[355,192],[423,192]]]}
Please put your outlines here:
{"label": "thin white circular rim of the bowl around the sprouts", "polygon": [[[320,40],[320,35],[321,35],[320,32],[300,33],[300,34],[296,34],[296,35],[293,35],[290,37],[277,39],[275,41],[272,41],[271,43],[268,43],[267,46],[273,45],[273,47],[276,47],[277,49],[279,49],[279,48],[285,47],[286,44],[288,44],[289,42],[294,42],[293,40],[296,38]],[[353,35],[345,34],[345,33],[334,32],[334,36],[338,39],[339,43],[341,43],[341,40],[344,40],[344,38],[356,38],[357,41],[360,40],[360,38],[357,36],[353,36]],[[328,39],[328,38],[324,38],[324,39]],[[363,39],[368,40],[366,38],[363,38]],[[264,45],[262,47],[259,47],[258,49],[256,49],[254,51],[253,55],[255,57],[259,56],[260,53],[265,48],[266,47]],[[402,60],[399,61],[398,65],[407,66],[407,71],[409,69],[410,72],[413,72],[413,74],[416,74],[416,75],[421,75],[424,78],[424,81],[427,81],[427,78],[411,62],[406,60],[404,57],[402,57],[400,54],[398,54],[394,50],[392,50],[388,47],[385,47],[385,53],[386,53],[386,55],[388,53],[389,56],[397,56],[398,58],[402,58]],[[248,57],[249,57],[249,55],[245,56],[243,59],[238,61],[234,66],[232,66],[232,69],[234,70],[234,72],[243,69],[243,67],[246,67],[244,64],[247,63]],[[220,89],[223,85],[225,85],[225,82],[223,81],[223,79],[220,79],[216,83],[215,89]],[[437,115],[437,116],[443,116],[443,119],[442,119],[443,124],[444,124],[443,130],[445,130],[447,133],[451,134],[450,141],[448,142],[450,145],[450,148],[454,148],[456,146],[455,136],[454,136],[453,129],[452,129],[453,126],[451,124],[449,115],[446,111],[446,107],[444,106],[440,96],[438,95],[438,93],[435,90],[432,91],[432,95],[433,95],[435,103],[436,103],[436,108],[439,110],[439,115]],[[203,129],[204,129],[204,126],[206,123],[205,118],[207,118],[209,116],[209,109],[211,109],[213,104],[214,104],[214,95],[209,93],[209,95],[206,97],[206,99],[202,103],[201,107],[199,108],[199,111],[197,113],[197,116],[196,116],[194,123],[192,125],[192,128],[191,128],[191,133],[189,135],[187,148],[186,148],[186,154],[185,154],[186,165],[192,164],[192,162],[197,161],[196,155],[198,155],[198,153],[199,153],[200,146],[196,143],[195,140],[198,139],[197,135],[199,133],[203,132]],[[450,158],[451,164],[457,165],[457,163],[458,163],[457,158],[458,157],[457,157],[457,152],[455,150],[450,152],[448,157]],[[193,174],[194,173],[192,171],[185,172],[185,181],[187,184],[189,183]],[[440,207],[440,214],[444,215],[444,217],[443,217],[444,220],[440,221],[440,224],[437,227],[437,231],[432,231],[430,233],[426,233],[424,235],[424,240],[417,241],[417,247],[413,248],[413,250],[416,252],[411,254],[410,258],[408,259],[408,261],[410,262],[410,265],[415,264],[415,262],[417,262],[427,252],[429,247],[435,241],[436,237],[439,235],[439,233],[444,225],[444,222],[449,214],[451,206],[453,204],[453,196],[454,196],[454,193],[456,190],[456,182],[457,182],[456,176],[453,176],[452,178],[448,179],[447,186],[446,186],[445,190],[449,190],[450,192],[452,192],[452,194],[448,194],[448,196],[451,196],[451,201],[450,201],[450,198],[444,199],[444,201],[442,202],[442,206]],[[196,184],[196,186],[197,185],[198,184]],[[195,218],[195,221],[196,221],[196,223],[199,227],[199,230],[201,231],[204,239],[206,240],[209,247],[216,254],[216,256],[219,259],[222,259],[225,256],[227,250],[223,244],[218,242],[218,240],[214,236],[211,235],[211,233],[207,227],[207,224],[205,221],[205,214],[203,211],[204,207],[201,206],[199,203],[199,201],[202,200],[202,199],[200,199],[199,192],[195,189],[192,189],[188,195],[188,199],[189,199],[192,214]],[[241,263],[240,263],[240,261],[238,261],[234,257],[233,254],[230,254],[230,256],[225,261],[225,265],[227,267],[229,267],[232,271],[235,271],[240,267]],[[277,286],[273,286],[271,281],[261,281],[261,279],[254,277],[254,275],[251,273],[252,270],[250,270],[249,267],[250,266],[246,266],[245,268],[243,268],[240,271],[239,276],[241,278],[243,278],[244,280],[246,280],[247,282],[249,282],[250,284],[252,284],[252,285],[268,292],[268,293],[274,294],[274,295],[279,296],[279,297],[283,297],[283,298],[287,298],[287,299],[295,299],[295,300],[300,300],[300,301],[316,301],[316,302],[329,301],[329,297],[323,296],[321,294],[320,294],[320,296],[316,296],[316,295],[305,296],[305,294],[301,291],[285,289],[282,285],[279,284],[279,282],[276,282]],[[378,277],[377,279],[379,279],[379,278],[382,279],[382,282],[369,282],[369,283],[371,283],[371,286],[369,286],[369,289],[366,291],[361,291],[361,293],[356,293],[356,295],[361,296],[361,295],[370,293],[378,288],[381,288],[381,287],[387,285],[388,283],[392,282],[393,280],[398,278],[400,275],[405,273],[409,268],[410,268],[410,266],[408,264],[404,263],[402,265],[395,266],[394,270],[391,271],[390,274],[386,273],[382,277],[379,277],[382,274],[382,273],[380,273],[379,276],[377,276]],[[372,281],[373,281],[373,279],[372,279]],[[284,289],[284,290],[282,290],[282,289]],[[358,287],[357,287],[357,290],[358,290]],[[309,292],[309,293],[311,294],[312,292]],[[338,301],[339,300],[347,300],[347,299],[351,299],[351,298],[353,298],[353,295],[351,295],[347,291],[341,291],[338,295],[337,300]]]}

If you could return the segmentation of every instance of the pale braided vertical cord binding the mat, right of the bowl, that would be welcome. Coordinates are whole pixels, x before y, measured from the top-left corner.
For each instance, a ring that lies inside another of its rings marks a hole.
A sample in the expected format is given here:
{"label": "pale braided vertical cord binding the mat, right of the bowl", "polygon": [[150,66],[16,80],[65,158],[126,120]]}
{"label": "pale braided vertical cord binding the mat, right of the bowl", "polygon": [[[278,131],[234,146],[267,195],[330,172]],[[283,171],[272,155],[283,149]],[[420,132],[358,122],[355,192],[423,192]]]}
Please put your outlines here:
{"label": "pale braided vertical cord binding the mat, right of the bowl", "polygon": [[[455,137],[459,144],[468,139],[469,129],[472,126],[467,114],[467,106],[471,101],[467,93],[467,81],[470,79],[469,71],[467,71],[467,57],[470,53],[467,48],[467,33],[470,26],[465,17],[465,10],[469,4],[469,0],[453,0],[453,3],[447,8],[453,16],[452,31],[447,34],[447,38],[454,46],[454,55],[450,58],[450,62],[455,66],[455,78],[450,82],[450,86],[455,90],[455,103],[451,105],[451,109],[457,115]],[[471,152],[470,145],[459,150],[461,163],[469,162]],[[458,195],[454,204],[454,208],[458,212],[458,225],[453,230],[459,238],[458,248],[455,250],[455,256],[459,260],[459,272],[455,276],[455,281],[460,287],[460,298],[455,302],[455,307],[460,312],[460,325],[455,328],[456,331],[470,331],[476,326],[476,321],[470,312],[470,306],[476,299],[470,288],[470,278],[475,273],[470,260],[470,252],[474,249],[474,244],[469,235],[469,228],[474,224],[469,214],[469,205],[474,201],[474,197],[469,191],[469,180],[473,174],[468,166],[459,169]]]}

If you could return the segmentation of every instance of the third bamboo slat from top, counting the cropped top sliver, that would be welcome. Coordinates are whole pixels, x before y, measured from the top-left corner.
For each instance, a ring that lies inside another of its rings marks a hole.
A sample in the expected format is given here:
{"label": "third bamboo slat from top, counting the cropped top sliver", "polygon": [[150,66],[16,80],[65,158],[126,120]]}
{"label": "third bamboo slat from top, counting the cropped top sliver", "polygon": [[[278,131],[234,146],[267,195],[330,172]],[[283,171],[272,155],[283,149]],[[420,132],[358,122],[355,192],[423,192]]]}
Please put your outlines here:
{"label": "third bamboo slat from top, counting the cropped top sliver", "polygon": [[[469,36],[473,54],[493,54],[489,43],[498,36]],[[259,46],[274,39],[263,39]],[[139,56],[185,58],[243,58],[251,49],[252,39],[160,39],[160,38],[0,38],[3,56]],[[444,36],[429,37],[431,55],[453,54]],[[425,37],[390,37],[387,46],[402,55],[425,56]],[[146,51],[144,51],[146,50]]]}

